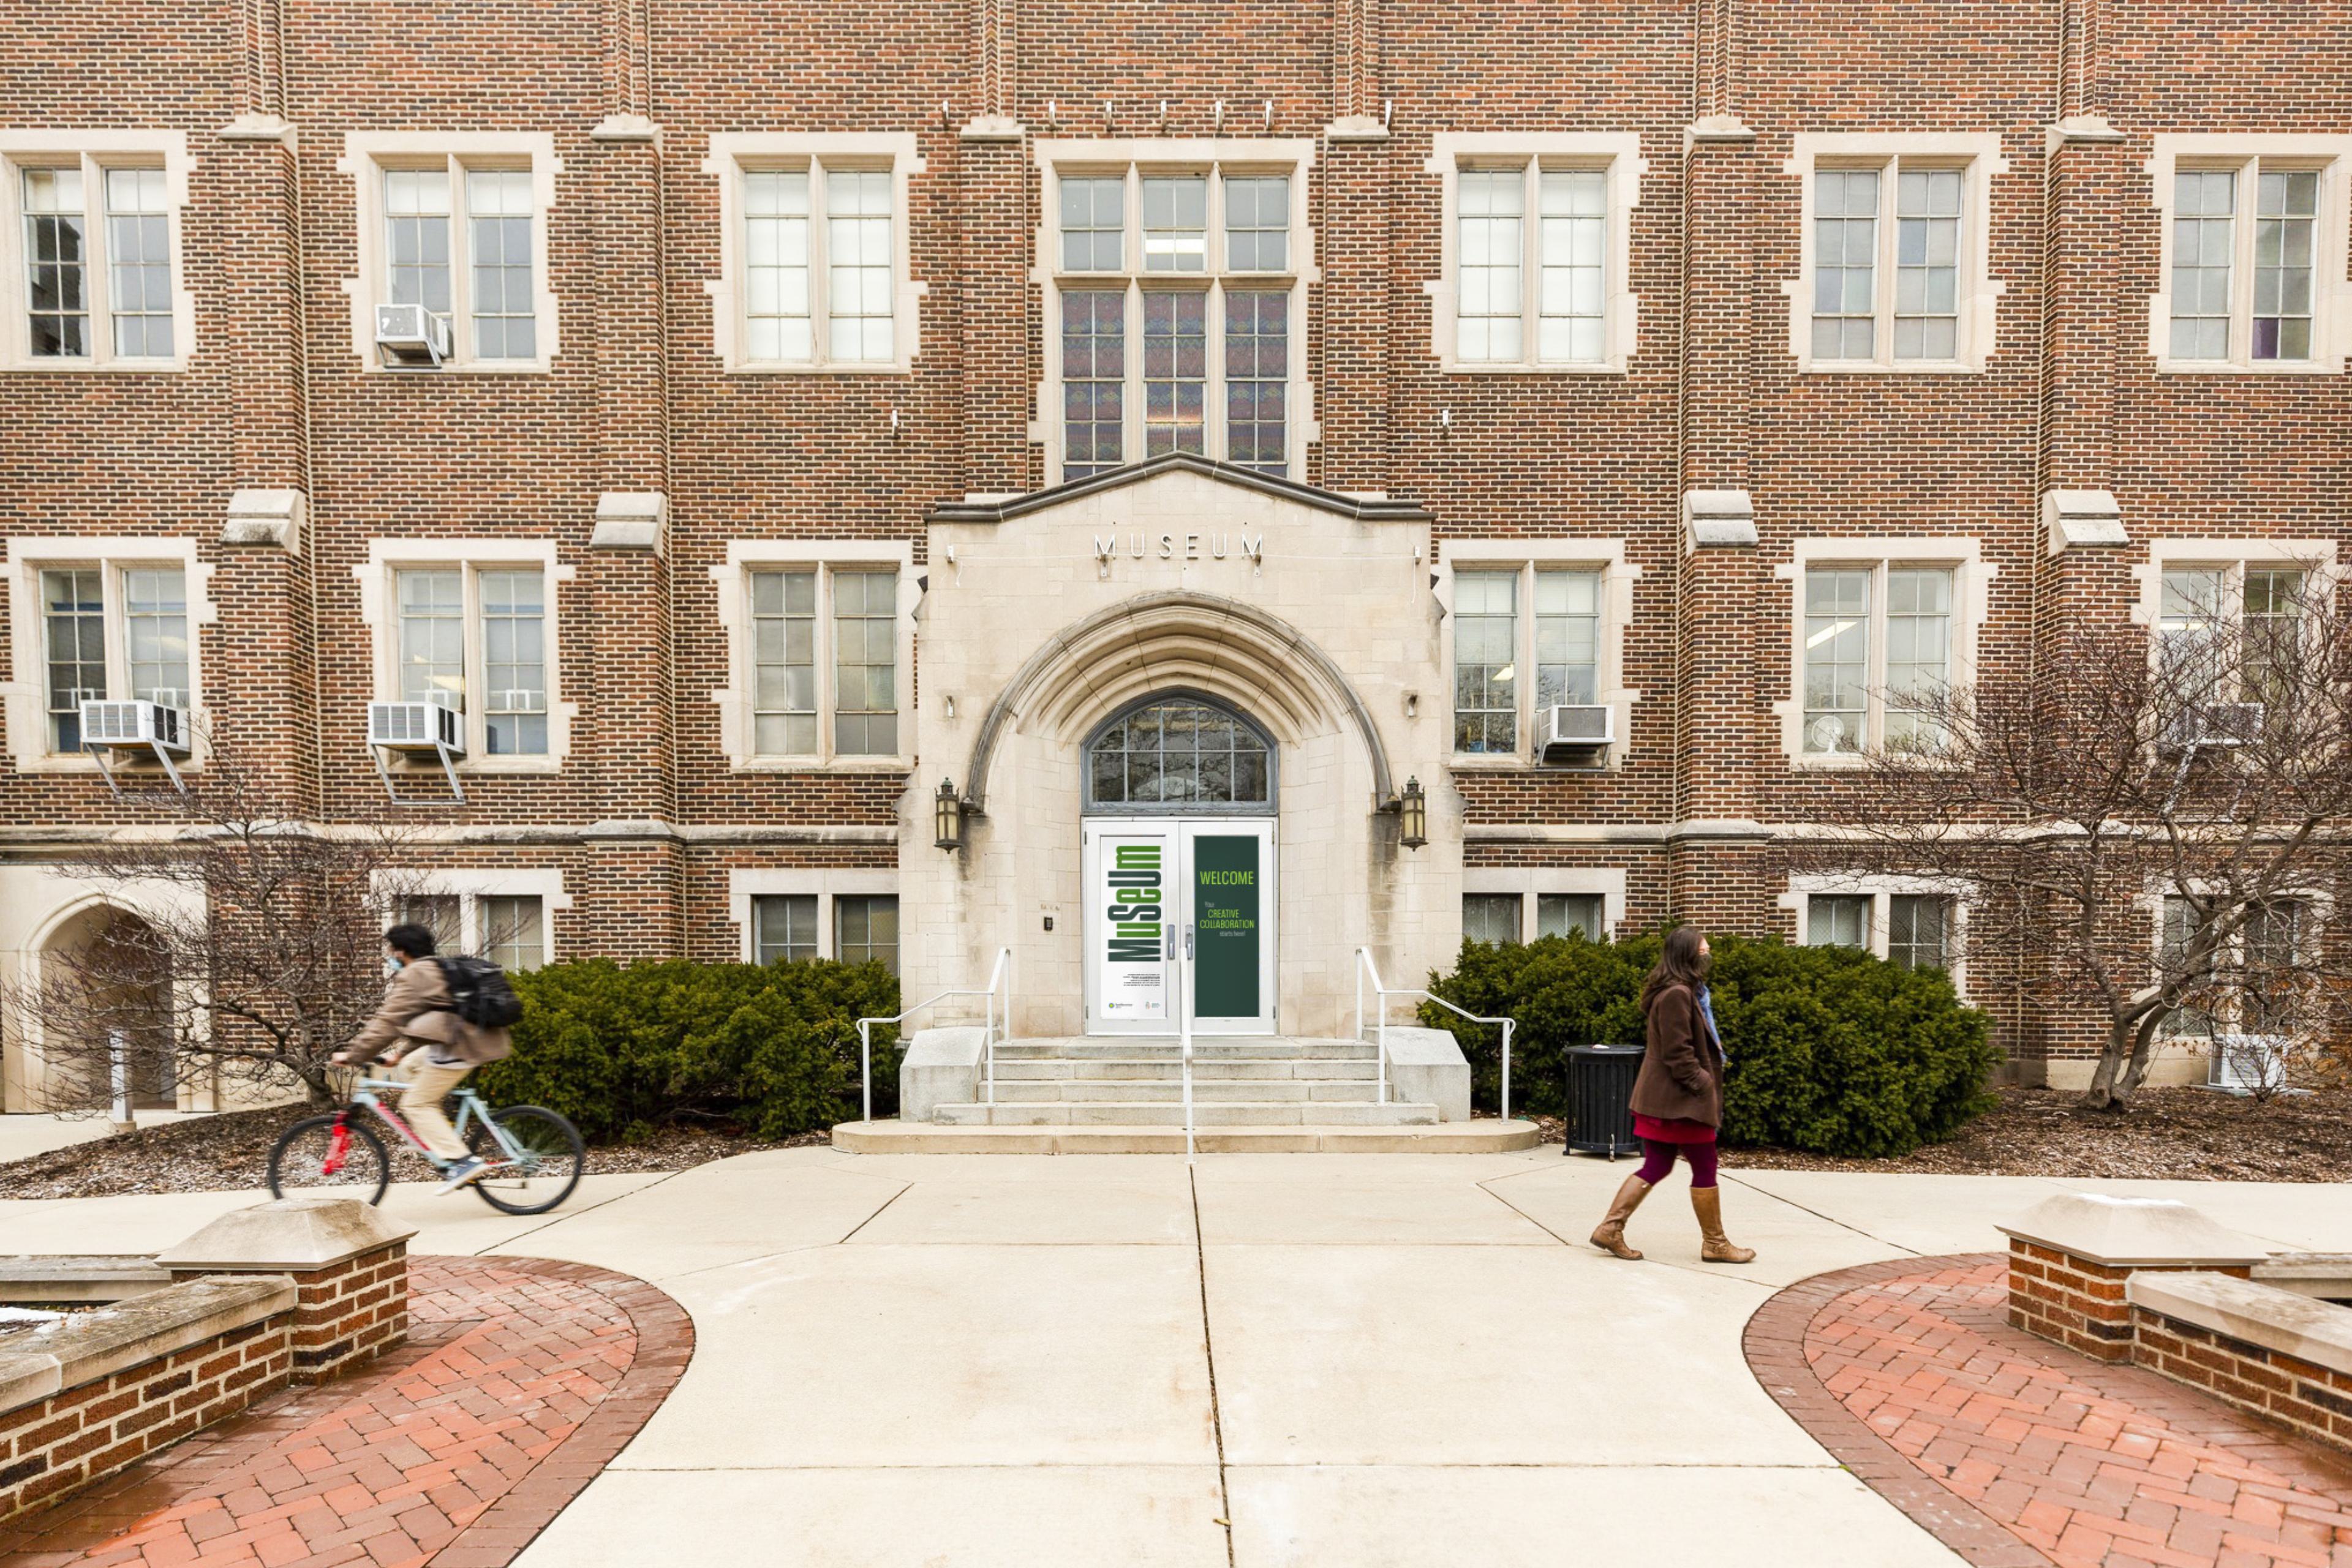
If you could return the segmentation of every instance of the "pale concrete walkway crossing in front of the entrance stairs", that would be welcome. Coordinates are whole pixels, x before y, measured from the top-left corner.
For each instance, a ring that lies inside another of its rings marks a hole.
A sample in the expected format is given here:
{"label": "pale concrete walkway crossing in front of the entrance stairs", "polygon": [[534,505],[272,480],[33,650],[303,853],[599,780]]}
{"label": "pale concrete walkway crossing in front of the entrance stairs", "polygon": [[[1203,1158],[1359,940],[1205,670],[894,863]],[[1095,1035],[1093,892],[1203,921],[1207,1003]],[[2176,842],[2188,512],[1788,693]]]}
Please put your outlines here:
{"label": "pale concrete walkway crossing in front of the entrance stairs", "polygon": [[[593,1262],[694,1316],[687,1378],[529,1568],[1515,1568],[1700,1519],[1740,1563],[1955,1563],[1748,1371],[1773,1288],[1992,1251],[2058,1187],[2352,1251],[2345,1187],[1766,1171],[1724,1199],[1757,1265],[1698,1262],[1679,1175],[1630,1265],[1583,1241],[1625,1168],[811,1147],[590,1178],[541,1220],[390,1206],[419,1253]],[[5,1201],[0,1251],[162,1246],[254,1197]]]}

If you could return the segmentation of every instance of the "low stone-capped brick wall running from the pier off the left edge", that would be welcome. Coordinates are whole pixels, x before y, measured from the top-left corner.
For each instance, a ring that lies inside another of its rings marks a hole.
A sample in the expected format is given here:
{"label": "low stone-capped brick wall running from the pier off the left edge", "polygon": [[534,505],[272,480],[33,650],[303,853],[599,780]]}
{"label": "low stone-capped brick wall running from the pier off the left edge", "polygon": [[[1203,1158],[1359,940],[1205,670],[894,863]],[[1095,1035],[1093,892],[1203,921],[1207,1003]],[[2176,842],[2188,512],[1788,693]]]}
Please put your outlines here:
{"label": "low stone-capped brick wall running from the pier off the left edge", "polygon": [[235,1415],[294,1373],[296,1286],[207,1276],[0,1349],[0,1521]]}

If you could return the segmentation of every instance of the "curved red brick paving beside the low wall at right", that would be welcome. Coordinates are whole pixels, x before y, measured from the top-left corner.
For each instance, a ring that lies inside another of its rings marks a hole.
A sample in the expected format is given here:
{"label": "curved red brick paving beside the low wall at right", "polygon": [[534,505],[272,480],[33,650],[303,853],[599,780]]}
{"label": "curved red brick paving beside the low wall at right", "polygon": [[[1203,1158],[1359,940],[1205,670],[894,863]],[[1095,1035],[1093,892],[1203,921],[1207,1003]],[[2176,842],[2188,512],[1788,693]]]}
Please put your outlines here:
{"label": "curved red brick paving beside the low wall at right", "polygon": [[2352,1568],[2352,1462],[2006,1321],[2004,1258],[1820,1274],[1748,1324],[1806,1432],[1978,1568]]}

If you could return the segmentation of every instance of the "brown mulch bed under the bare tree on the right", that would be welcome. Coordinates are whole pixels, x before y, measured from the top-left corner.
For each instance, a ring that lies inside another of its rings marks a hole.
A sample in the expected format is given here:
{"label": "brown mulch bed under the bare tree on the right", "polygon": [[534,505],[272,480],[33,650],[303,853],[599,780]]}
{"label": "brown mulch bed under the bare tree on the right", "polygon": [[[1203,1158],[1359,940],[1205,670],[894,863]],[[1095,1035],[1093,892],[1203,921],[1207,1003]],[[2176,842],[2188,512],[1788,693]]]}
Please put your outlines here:
{"label": "brown mulch bed under the bare tree on the right", "polygon": [[[2143,1088],[2126,1112],[2084,1110],[2058,1088],[1997,1088],[1950,1143],[1903,1159],[1726,1150],[1748,1171],[1936,1171],[1945,1175],[2131,1175],[2206,1182],[2352,1180],[2352,1091],[2253,1100],[2213,1088]],[[1548,1143],[1566,1126],[1534,1117]]]}

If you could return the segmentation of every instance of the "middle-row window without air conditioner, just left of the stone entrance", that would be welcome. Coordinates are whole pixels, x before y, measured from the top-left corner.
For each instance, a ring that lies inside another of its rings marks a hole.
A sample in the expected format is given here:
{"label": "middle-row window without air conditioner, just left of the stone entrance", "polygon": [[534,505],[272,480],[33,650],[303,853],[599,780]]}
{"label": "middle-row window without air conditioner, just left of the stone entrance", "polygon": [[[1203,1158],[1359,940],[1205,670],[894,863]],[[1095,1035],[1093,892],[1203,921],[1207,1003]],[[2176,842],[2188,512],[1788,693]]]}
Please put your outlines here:
{"label": "middle-row window without air conditioner, just left of the stone entrance", "polygon": [[906,764],[903,543],[736,541],[710,574],[734,646],[734,679],[715,698],[736,766]]}

